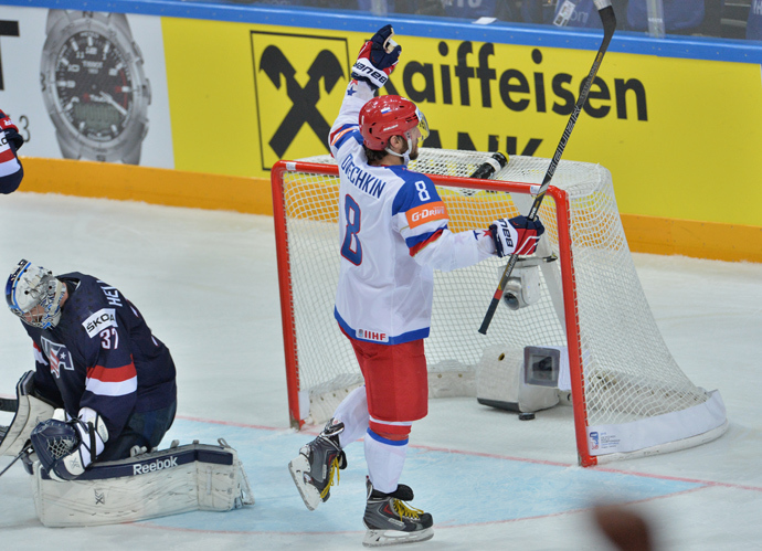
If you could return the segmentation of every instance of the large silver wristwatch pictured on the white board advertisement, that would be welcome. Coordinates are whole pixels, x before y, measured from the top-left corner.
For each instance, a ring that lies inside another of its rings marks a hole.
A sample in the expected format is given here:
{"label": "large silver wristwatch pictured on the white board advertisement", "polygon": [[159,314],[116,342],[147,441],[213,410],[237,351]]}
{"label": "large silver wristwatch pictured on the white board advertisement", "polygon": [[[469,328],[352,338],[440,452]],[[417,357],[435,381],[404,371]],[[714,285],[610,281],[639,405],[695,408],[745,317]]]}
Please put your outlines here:
{"label": "large silver wristwatch pictured on the white board advertisement", "polygon": [[123,13],[50,10],[40,65],[65,159],[138,165],[151,88]]}

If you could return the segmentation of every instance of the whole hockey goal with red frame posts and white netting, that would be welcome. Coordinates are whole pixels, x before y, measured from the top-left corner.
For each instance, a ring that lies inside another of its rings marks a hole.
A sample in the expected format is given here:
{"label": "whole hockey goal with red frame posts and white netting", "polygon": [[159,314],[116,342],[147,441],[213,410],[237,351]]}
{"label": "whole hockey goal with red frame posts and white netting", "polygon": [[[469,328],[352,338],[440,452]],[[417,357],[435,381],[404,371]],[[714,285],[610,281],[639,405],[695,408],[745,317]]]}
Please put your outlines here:
{"label": "whole hockey goal with red frame posts and white netting", "polygon": [[[468,174],[487,153],[423,148],[411,169],[431,174],[449,229],[487,227],[529,210],[549,160],[512,157],[493,180]],[[272,170],[275,235],[292,424],[319,424],[362,377],[334,319],[339,274],[338,168],[329,156],[279,161]],[[720,436],[718,391],[696,386],[656,326],[622,229],[611,173],[561,161],[540,218],[546,234],[539,299],[500,305],[477,331],[506,261],[435,273],[431,337],[434,395],[463,394],[490,347],[557,347],[568,354],[580,464],[682,449]],[[456,386],[458,386],[456,389]],[[473,394],[472,394],[473,395]]]}

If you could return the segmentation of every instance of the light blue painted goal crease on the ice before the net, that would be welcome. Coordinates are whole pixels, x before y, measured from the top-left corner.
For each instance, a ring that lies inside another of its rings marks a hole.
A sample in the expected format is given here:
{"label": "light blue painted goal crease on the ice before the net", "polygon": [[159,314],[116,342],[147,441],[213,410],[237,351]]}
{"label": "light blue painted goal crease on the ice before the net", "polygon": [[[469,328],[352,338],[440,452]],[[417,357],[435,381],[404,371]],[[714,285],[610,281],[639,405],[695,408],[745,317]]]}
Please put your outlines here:
{"label": "light blue painted goal crease on the ice before the net", "polygon": [[[313,436],[294,431],[221,425],[179,418],[162,446],[173,438],[215,444],[225,438],[243,462],[254,506],[230,512],[195,511],[154,519],[156,527],[212,532],[326,533],[363,531],[366,460],[357,442],[346,449],[348,467],[330,499],[308,511],[288,473],[288,462]],[[415,491],[413,507],[435,526],[506,522],[585,509],[596,498],[639,501],[700,488],[700,483],[514,460],[502,457],[408,449],[401,480]]]}

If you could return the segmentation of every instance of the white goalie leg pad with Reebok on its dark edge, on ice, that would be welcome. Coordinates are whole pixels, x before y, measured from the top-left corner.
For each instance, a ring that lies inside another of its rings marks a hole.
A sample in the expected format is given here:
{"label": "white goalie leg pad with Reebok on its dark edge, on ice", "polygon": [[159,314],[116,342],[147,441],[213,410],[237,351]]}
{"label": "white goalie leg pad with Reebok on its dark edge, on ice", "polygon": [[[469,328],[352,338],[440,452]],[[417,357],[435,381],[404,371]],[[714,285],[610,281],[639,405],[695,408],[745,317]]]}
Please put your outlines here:
{"label": "white goalie leg pad with Reebok on its dark edge, on ice", "polygon": [[59,483],[34,464],[34,508],[46,527],[136,522],[188,511],[229,511],[253,505],[235,449],[189,444],[129,459],[95,463],[76,480]]}

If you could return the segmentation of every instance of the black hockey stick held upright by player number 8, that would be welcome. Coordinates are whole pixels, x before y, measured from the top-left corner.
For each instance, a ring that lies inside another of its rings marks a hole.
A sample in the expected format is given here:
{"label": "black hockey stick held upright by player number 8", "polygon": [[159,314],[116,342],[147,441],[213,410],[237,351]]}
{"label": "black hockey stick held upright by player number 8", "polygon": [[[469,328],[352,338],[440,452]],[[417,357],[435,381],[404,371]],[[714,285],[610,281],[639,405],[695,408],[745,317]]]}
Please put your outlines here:
{"label": "black hockey stick held upright by player number 8", "polygon": [[[595,7],[597,8],[599,15],[601,15],[601,22],[603,23],[603,42],[601,42],[601,47],[599,47],[597,50],[597,54],[595,55],[593,66],[591,67],[590,74],[585,80],[584,86],[582,87],[582,92],[580,92],[580,97],[578,98],[576,104],[574,105],[574,110],[569,117],[567,128],[563,130],[563,135],[561,136],[561,141],[559,141],[559,145],[555,148],[555,153],[553,155],[553,158],[550,161],[550,166],[548,167],[548,171],[546,172],[546,176],[542,179],[542,186],[540,186],[540,189],[537,195],[535,197],[532,208],[529,210],[529,214],[527,215],[527,218],[531,220],[537,220],[537,213],[540,210],[540,205],[542,204],[542,199],[546,195],[546,191],[548,191],[550,180],[553,178],[555,169],[558,168],[558,165],[561,161],[561,155],[563,155],[563,150],[567,147],[569,137],[571,136],[571,133],[574,129],[576,118],[580,116],[580,112],[582,110],[582,107],[588,100],[590,87],[592,86],[593,81],[595,80],[595,75],[597,74],[599,67],[601,66],[601,62],[603,62],[603,55],[606,53],[606,49],[608,47],[611,38],[614,35],[614,30],[616,29],[616,17],[614,15],[614,9],[611,7],[611,0],[593,1],[595,2]],[[514,272],[516,261],[518,261],[518,255],[511,254],[510,258],[508,259],[508,265],[506,265],[506,269],[502,272],[502,276],[500,277],[500,283],[498,283],[497,285],[495,296],[493,296],[493,300],[489,303],[489,308],[487,309],[487,314],[484,317],[484,321],[481,321],[481,327],[479,327],[479,332],[481,335],[487,335],[487,329],[489,328],[489,324],[491,322],[493,317],[495,316],[497,306],[500,304],[500,298],[502,298],[502,290],[506,288],[506,284],[508,283],[508,278],[510,277],[511,272]]]}

